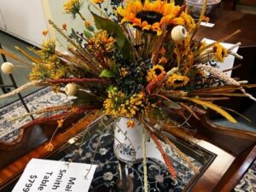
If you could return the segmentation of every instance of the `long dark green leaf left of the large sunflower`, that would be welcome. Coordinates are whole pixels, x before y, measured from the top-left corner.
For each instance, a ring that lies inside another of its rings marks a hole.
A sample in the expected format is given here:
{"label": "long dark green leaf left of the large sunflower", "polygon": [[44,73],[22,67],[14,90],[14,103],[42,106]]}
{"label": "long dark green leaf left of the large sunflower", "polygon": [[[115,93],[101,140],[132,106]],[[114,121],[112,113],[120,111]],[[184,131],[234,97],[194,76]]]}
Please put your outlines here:
{"label": "long dark green leaf left of the large sunflower", "polygon": [[119,24],[113,22],[112,20],[102,18],[101,16],[96,15],[92,12],[91,14],[94,17],[97,29],[103,29],[109,32],[113,36],[113,38],[115,38],[116,44],[120,49],[124,59],[129,61],[131,56],[131,44],[125,37],[121,26],[119,26]]}

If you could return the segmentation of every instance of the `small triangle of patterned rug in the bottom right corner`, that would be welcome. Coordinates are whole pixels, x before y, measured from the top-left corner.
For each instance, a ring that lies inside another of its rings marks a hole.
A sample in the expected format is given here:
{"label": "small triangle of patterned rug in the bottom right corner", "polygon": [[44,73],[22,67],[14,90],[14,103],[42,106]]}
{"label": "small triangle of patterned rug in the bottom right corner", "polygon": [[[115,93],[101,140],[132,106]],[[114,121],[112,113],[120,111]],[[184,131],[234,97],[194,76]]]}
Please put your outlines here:
{"label": "small triangle of patterned rug in the bottom right corner", "polygon": [[236,185],[236,192],[256,192],[256,160]]}

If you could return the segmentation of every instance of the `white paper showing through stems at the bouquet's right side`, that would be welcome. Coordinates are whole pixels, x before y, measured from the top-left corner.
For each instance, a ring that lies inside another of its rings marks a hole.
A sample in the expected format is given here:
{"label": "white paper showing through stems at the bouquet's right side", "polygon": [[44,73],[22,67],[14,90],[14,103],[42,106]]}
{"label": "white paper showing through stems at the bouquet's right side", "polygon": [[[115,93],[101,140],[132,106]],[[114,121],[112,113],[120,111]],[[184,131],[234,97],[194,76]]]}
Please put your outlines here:
{"label": "white paper showing through stems at the bouquet's right side", "polygon": [[[212,44],[213,41],[212,39],[209,38],[203,38],[202,41],[204,41],[206,44]],[[225,49],[230,49],[232,46],[234,46],[234,44],[226,44],[226,43],[220,43],[222,46],[224,46]],[[235,49],[232,49],[232,52],[236,53],[238,50],[238,46]],[[218,70],[219,71],[224,71],[226,69],[230,69],[234,66],[234,62],[235,62],[235,56],[233,55],[228,55],[224,62],[217,62],[218,65]],[[231,77],[231,73],[232,71],[228,71],[226,72],[226,74]]]}

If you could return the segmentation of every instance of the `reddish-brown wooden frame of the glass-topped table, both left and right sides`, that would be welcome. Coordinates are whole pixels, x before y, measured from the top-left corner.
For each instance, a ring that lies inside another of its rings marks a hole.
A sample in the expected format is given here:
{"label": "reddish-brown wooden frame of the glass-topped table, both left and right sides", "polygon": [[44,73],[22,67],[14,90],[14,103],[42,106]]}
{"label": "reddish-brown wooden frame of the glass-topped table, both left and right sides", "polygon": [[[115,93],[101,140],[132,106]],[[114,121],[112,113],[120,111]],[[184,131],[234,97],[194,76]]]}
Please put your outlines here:
{"label": "reddish-brown wooden frame of the glass-topped table, both left and right sides", "polygon": [[[8,151],[0,151],[2,164],[2,168],[0,169],[0,190],[4,192],[9,191],[6,189],[8,189],[9,186],[13,186],[29,160],[32,158],[48,158],[50,155],[60,151],[62,146],[65,145],[70,138],[84,131],[87,125],[89,125],[93,119],[96,119],[96,117],[97,116],[89,116],[84,118],[80,120],[79,123],[73,125],[72,129],[59,133],[52,141],[55,148],[51,152],[45,149],[50,136],[50,134],[45,131],[54,131],[52,128],[55,126],[48,125],[46,127],[45,125],[41,125],[28,127],[26,131],[30,131],[30,134],[26,134],[26,136],[30,137],[24,138],[25,140],[23,143],[20,143],[20,147],[19,145],[16,146],[15,149],[9,151],[9,153],[6,153]],[[183,129],[170,129],[166,127],[165,130],[183,140],[183,142],[195,143],[195,145],[204,148],[204,150],[216,156],[207,167],[201,170],[201,174],[196,176],[193,182],[189,183],[185,191],[231,191],[256,157],[256,133],[219,127],[213,125],[207,117],[202,118],[201,121],[191,119],[189,123],[197,130],[194,137],[191,137],[190,133]],[[39,134],[41,132],[41,137],[38,137],[37,132]],[[29,146],[27,146],[27,144],[29,144]],[[195,148],[196,146],[193,145],[192,147]],[[12,153],[18,150],[24,151],[25,154],[13,160],[11,163],[10,161],[6,161]],[[3,165],[4,162],[10,164]]]}

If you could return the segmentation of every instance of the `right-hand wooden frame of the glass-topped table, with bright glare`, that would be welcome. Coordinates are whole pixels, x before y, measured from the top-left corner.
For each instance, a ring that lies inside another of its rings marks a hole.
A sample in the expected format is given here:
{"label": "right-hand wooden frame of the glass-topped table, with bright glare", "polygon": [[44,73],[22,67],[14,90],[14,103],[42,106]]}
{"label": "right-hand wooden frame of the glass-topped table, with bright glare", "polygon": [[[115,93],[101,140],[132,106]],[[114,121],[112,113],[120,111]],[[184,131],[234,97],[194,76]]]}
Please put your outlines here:
{"label": "right-hand wooden frame of the glass-topped table, with bright glare", "polygon": [[197,130],[194,138],[188,132],[173,131],[170,128],[166,128],[166,131],[179,138],[188,138],[188,142],[194,141],[202,148],[217,154],[190,191],[231,191],[253,160],[256,160],[256,133],[214,125],[207,116],[201,121],[193,119],[190,122]]}

